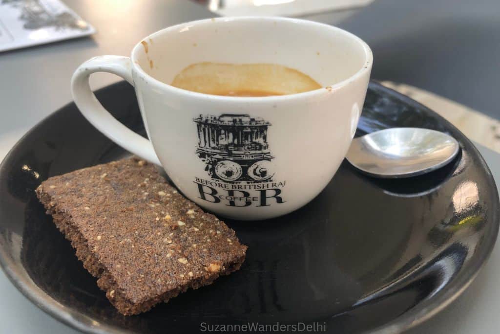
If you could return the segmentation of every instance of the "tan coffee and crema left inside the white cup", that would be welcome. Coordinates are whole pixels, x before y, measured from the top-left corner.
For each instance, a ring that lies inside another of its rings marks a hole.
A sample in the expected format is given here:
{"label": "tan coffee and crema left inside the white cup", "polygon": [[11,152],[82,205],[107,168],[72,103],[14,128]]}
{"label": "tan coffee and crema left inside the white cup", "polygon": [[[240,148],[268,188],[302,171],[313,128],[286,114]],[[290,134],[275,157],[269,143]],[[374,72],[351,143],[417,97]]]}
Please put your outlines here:
{"label": "tan coffee and crema left inside the white cup", "polygon": [[192,92],[235,97],[289,95],[321,88],[308,75],[277,64],[192,64],[171,86]]}

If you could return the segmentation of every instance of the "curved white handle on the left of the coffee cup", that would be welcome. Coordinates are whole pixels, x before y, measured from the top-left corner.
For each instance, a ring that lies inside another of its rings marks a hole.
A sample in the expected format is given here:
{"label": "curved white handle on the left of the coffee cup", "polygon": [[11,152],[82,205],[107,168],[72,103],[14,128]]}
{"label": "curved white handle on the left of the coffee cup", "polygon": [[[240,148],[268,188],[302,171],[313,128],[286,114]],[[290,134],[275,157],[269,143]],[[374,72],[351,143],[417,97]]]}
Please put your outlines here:
{"label": "curved white handle on the left of the coffee cup", "polygon": [[129,130],[111,116],[97,101],[90,89],[89,78],[95,72],[115,74],[134,86],[131,68],[128,57],[99,56],[91,58],[81,64],[74,72],[71,78],[71,93],[80,112],[97,130],[127,151],[160,166],[151,142]]}

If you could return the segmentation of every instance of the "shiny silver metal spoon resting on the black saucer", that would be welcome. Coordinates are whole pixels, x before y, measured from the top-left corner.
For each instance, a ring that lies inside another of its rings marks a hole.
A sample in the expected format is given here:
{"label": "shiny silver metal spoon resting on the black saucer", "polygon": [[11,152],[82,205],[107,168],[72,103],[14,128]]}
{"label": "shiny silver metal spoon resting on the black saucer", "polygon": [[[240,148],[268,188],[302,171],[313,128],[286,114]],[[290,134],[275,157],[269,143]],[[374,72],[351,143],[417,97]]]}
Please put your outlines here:
{"label": "shiny silver metal spoon resting on the black saucer", "polygon": [[371,176],[401,178],[424,174],[458,153],[451,136],[420,128],[392,128],[354,138],[345,158]]}

